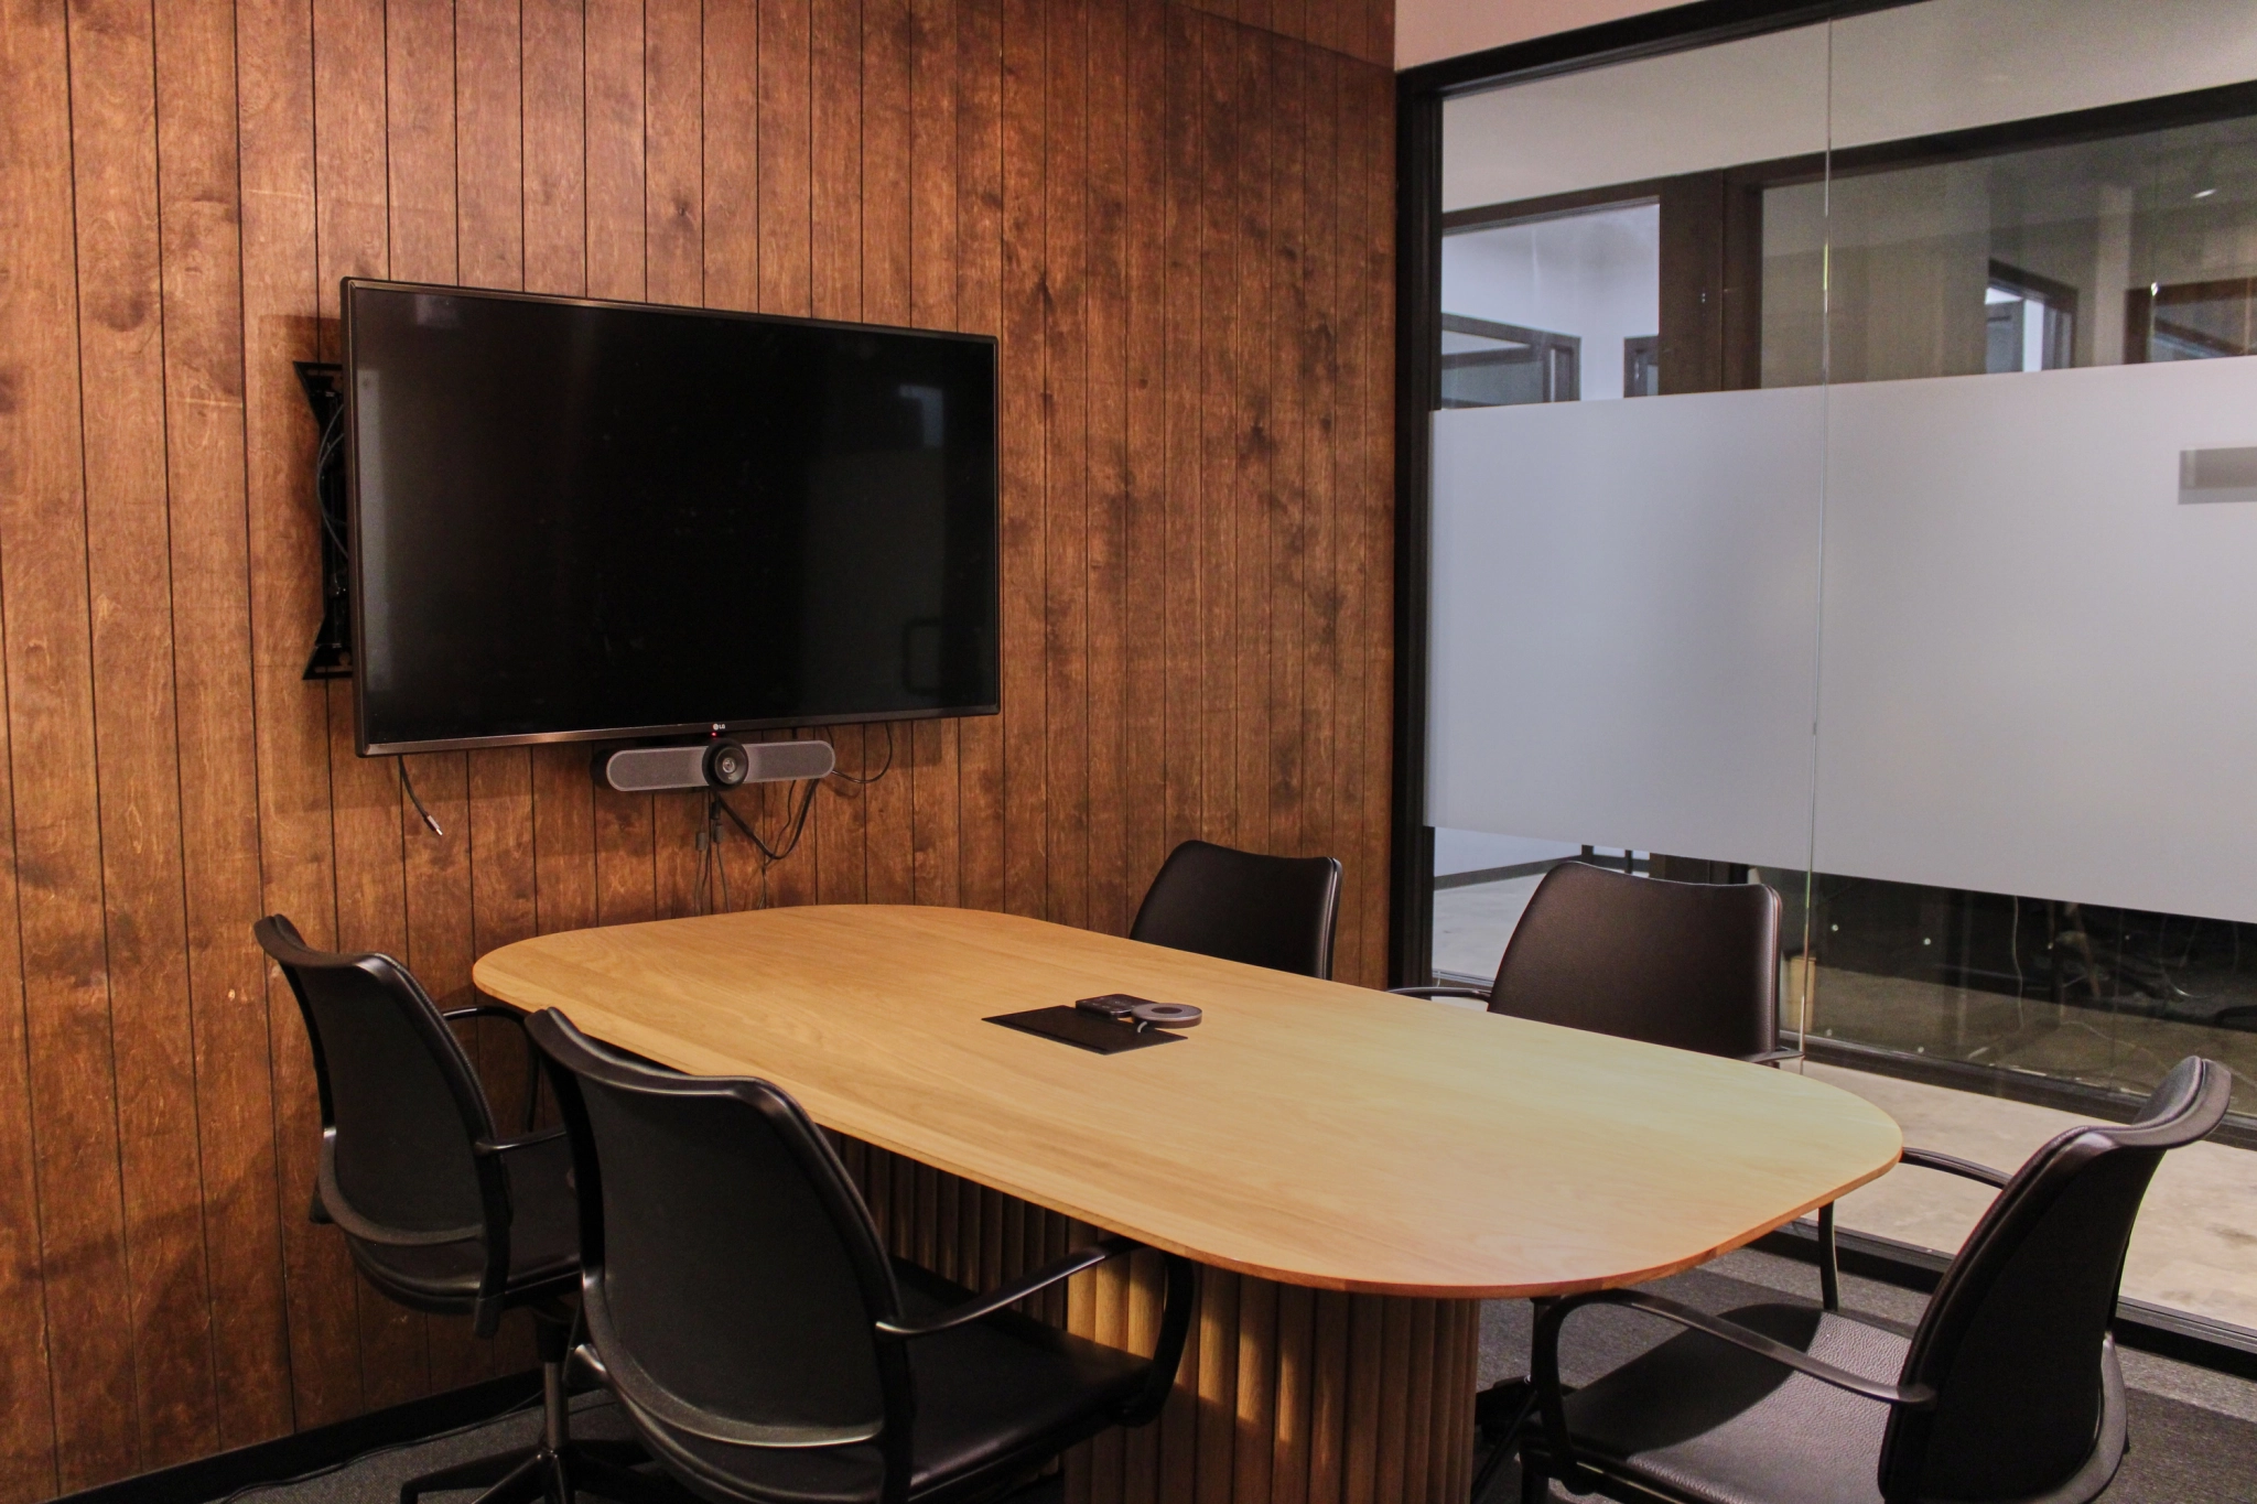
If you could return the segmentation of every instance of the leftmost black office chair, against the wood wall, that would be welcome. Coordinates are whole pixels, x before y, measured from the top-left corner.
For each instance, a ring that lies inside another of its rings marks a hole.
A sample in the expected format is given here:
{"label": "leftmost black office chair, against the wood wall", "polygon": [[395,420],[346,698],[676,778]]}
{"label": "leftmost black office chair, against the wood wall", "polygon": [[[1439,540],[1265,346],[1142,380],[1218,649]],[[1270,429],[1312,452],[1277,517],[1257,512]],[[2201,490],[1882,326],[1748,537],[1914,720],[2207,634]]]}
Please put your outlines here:
{"label": "leftmost black office chair, against the wood wall", "polygon": [[[251,927],[282,967],[320,1094],[320,1168],[311,1215],[345,1233],[370,1285],[409,1310],[467,1315],[492,1337],[501,1312],[533,1312],[546,1407],[539,1445],[411,1479],[399,1504],[438,1488],[490,1488],[481,1504],[548,1497],[571,1486],[609,1499],[657,1486],[625,1470],[632,1443],[576,1443],[567,1430],[564,1355],[578,1283],[571,1145],[564,1130],[503,1139],[447,1019],[499,1017],[481,1003],[445,1015],[390,956],[311,949],[280,913]],[[528,1087],[533,1049],[526,1046]],[[533,1091],[526,1094],[526,1127]]]}

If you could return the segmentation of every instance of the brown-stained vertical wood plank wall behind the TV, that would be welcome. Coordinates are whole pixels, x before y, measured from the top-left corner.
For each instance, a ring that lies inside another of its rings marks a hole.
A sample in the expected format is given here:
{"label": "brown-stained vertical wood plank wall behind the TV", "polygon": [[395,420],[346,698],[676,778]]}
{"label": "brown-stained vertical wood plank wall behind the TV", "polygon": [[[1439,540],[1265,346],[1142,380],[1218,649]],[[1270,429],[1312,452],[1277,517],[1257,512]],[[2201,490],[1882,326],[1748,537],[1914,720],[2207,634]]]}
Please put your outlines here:
{"label": "brown-stained vertical wood plank wall behind the TV", "polygon": [[1185,837],[1332,852],[1381,983],[1390,43],[1388,0],[0,0],[0,1504],[528,1360],[307,1224],[260,913],[451,1003],[691,902],[686,798],[424,755],[431,837],[300,681],[339,277],[998,334],[1007,710],[896,726],[731,895],[1119,931]]}

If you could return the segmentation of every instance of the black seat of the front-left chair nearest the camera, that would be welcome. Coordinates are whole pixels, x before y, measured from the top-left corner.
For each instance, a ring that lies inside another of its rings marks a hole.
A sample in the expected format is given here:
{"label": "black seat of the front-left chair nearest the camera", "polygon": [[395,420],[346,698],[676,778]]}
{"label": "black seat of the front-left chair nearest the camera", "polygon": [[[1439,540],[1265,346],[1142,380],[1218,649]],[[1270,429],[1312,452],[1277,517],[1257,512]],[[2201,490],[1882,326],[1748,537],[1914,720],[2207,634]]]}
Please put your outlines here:
{"label": "black seat of the front-left chair nearest the camera", "polygon": [[[901,1267],[905,1315],[971,1299]],[[1142,1389],[1151,1364],[1013,1310],[910,1342],[916,1382],[910,1495],[941,1502],[1092,1436]],[[625,1396],[623,1396],[625,1403]],[[666,1470],[709,1499],[867,1504],[878,1497],[876,1443],[754,1448],[693,1436],[625,1403]]]}

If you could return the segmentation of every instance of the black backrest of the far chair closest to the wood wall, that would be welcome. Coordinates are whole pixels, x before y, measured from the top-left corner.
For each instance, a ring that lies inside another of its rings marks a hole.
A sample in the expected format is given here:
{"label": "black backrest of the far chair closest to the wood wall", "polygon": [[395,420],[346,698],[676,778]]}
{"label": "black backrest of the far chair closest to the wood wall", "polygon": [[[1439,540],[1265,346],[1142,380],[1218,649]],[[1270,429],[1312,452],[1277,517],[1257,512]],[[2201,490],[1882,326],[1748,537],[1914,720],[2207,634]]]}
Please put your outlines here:
{"label": "black backrest of the far chair closest to the wood wall", "polygon": [[1338,913],[1341,864],[1332,857],[1185,841],[1144,891],[1128,938],[1329,979]]}

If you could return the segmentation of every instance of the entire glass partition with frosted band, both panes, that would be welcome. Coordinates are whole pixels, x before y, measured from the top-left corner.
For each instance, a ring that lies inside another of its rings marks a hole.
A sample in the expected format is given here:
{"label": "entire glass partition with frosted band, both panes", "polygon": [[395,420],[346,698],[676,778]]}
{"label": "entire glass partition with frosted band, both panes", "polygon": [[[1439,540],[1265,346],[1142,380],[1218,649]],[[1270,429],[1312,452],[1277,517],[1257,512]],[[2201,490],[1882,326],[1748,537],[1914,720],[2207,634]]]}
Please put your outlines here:
{"label": "entire glass partition with frosted band, both panes", "polygon": [[[2257,1330],[2257,11],[1923,0],[1442,156],[1435,970],[1582,857],[1779,888],[1806,1069],[1957,1152],[2212,1055],[2126,1292]],[[1916,1182],[1844,1227],[1952,1247]]]}

